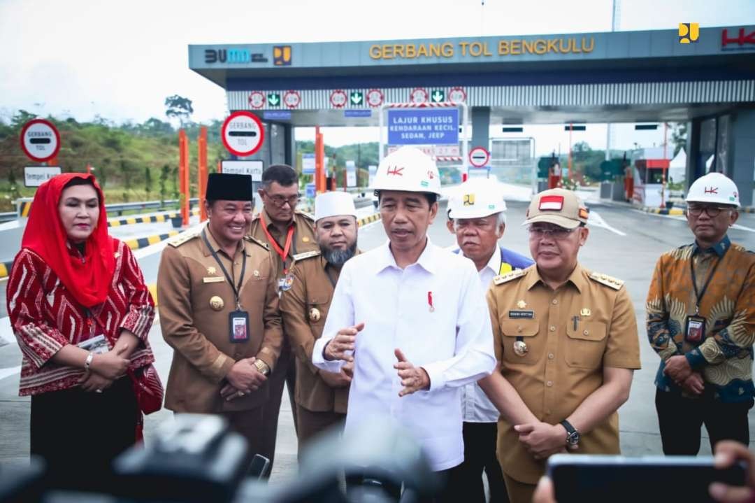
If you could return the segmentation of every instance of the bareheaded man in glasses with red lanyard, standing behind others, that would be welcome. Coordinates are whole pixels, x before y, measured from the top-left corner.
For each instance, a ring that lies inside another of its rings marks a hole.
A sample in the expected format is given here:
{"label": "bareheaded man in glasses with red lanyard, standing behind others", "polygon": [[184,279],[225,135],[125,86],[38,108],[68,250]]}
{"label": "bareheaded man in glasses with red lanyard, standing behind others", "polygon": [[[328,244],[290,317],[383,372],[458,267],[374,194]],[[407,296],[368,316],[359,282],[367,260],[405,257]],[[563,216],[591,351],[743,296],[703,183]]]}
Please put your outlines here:
{"label": "bareheaded man in glasses with red lanyard, standing behind others", "polygon": [[[315,239],[314,221],[308,214],[296,211],[299,202],[299,183],[291,166],[273,165],[262,174],[262,184],[257,191],[262,199],[262,211],[249,227],[249,236],[270,245],[275,260],[278,292],[291,288],[294,276],[291,267],[294,255],[319,251]],[[275,452],[278,432],[278,414],[281,407],[283,384],[288,388],[288,400],[297,427],[294,389],[296,367],[288,337],[284,337],[281,354],[270,375],[270,398],[265,404],[263,430],[266,452]],[[274,459],[270,456],[272,466]]]}

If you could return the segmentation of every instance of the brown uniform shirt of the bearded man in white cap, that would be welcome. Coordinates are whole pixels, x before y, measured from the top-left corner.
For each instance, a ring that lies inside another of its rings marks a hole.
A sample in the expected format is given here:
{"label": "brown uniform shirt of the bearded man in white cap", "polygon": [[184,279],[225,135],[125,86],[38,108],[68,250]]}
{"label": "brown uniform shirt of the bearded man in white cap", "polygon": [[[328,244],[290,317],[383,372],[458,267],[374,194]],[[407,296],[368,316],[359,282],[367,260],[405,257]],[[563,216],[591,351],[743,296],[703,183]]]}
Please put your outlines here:
{"label": "brown uniform shirt of the bearded man in white cap", "polygon": [[298,258],[291,270],[294,284],[282,292],[283,327],[296,354],[296,403],[313,412],[346,413],[349,388],[332,388],[322,380],[325,372],[312,364],[312,348],[322,335],[325,317],[341,269],[328,265],[322,255],[312,252]]}

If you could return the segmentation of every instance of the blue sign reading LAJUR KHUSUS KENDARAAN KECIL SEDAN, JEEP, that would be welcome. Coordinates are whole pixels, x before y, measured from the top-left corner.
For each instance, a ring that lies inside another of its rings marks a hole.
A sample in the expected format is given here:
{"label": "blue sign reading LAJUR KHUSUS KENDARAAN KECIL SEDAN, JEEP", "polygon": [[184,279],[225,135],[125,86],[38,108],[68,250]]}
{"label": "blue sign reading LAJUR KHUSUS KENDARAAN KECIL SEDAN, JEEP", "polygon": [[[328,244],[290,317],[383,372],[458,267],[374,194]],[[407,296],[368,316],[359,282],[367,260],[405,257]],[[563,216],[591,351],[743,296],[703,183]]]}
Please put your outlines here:
{"label": "blue sign reading LAJUR KHUSUS KENDARAAN KECIL SEDAN, JEEP", "polygon": [[446,145],[459,143],[459,110],[388,110],[388,144]]}

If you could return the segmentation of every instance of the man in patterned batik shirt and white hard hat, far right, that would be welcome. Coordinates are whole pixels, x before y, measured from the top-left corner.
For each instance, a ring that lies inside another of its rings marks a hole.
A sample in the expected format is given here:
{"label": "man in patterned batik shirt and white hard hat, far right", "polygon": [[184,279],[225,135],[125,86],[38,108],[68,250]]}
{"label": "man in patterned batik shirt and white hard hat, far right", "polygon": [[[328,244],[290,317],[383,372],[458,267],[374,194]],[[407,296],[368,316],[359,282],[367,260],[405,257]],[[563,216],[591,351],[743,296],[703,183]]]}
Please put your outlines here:
{"label": "man in patterned batik shirt and white hard hat, far right", "polygon": [[706,174],[686,200],[695,242],[661,255],[646,304],[661,356],[655,408],[667,455],[697,455],[702,424],[711,449],[725,439],[747,445],[755,395],[755,255],[726,234],[739,217],[737,187]]}

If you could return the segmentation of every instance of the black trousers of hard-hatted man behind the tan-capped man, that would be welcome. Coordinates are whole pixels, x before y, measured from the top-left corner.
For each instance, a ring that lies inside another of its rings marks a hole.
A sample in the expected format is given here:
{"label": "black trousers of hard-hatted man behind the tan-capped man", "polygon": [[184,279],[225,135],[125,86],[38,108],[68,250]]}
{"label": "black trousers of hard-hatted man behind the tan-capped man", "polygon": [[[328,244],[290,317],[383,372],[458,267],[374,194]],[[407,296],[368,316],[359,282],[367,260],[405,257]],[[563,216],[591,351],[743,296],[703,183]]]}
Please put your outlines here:
{"label": "black trousers of hard-hatted man behind the tan-capped man", "polygon": [[490,501],[508,503],[504,474],[495,455],[498,443],[497,423],[464,423],[464,463],[460,465],[461,477],[466,487],[464,501],[485,503],[485,487],[482,475],[488,478]]}

